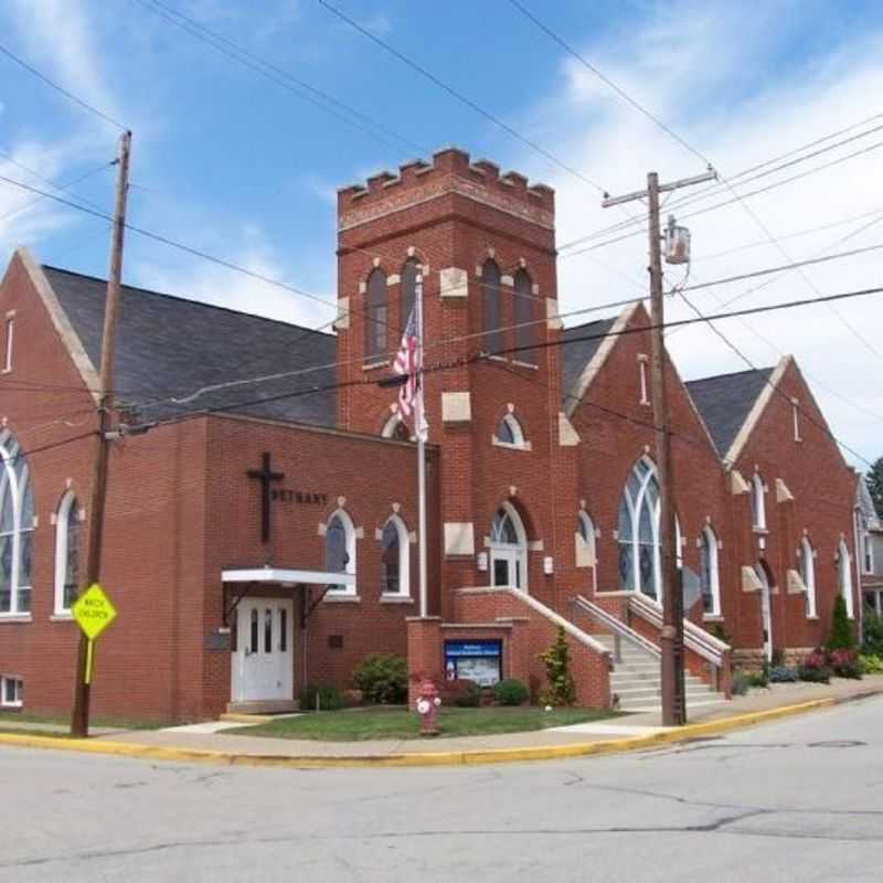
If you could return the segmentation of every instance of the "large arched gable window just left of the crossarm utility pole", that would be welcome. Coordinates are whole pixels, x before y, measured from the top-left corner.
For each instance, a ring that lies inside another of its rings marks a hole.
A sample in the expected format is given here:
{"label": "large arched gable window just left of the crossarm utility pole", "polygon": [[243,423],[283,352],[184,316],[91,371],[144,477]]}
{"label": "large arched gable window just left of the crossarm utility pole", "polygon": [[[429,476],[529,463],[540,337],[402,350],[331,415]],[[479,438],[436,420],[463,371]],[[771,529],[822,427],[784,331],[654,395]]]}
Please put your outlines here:
{"label": "large arched gable window just left of the crossarm utility pole", "polygon": [[629,472],[619,500],[619,588],[658,599],[659,482],[652,461],[642,457]]}

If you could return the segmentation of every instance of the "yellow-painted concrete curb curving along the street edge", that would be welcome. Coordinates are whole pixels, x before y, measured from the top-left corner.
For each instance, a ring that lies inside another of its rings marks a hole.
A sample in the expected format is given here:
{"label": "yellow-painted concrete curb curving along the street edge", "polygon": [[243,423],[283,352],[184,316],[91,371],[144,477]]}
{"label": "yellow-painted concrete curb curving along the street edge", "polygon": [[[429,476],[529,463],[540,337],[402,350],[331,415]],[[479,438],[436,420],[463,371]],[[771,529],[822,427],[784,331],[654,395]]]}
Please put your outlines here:
{"label": "yellow-painted concrete curb curving along the street edge", "polygon": [[701,736],[726,733],[755,724],[790,717],[796,714],[831,708],[833,705],[880,695],[879,691],[868,691],[851,696],[828,696],[783,705],[766,711],[736,714],[700,724],[688,724],[679,730],[652,733],[646,736],[581,742],[573,745],[544,745],[525,748],[489,748],[486,751],[430,752],[424,754],[377,754],[377,755],[272,755],[249,754],[247,752],[221,752],[204,748],[171,748],[159,745],[134,745],[125,742],[97,742],[81,738],[58,738],[52,736],[31,736],[14,733],[0,733],[0,745],[25,748],[46,748],[84,754],[137,757],[150,760],[177,760],[182,763],[208,763],[226,766],[268,766],[294,769],[348,768],[348,767],[415,767],[415,766],[472,766],[480,764],[503,764],[518,760],[554,760],[570,757],[587,757],[602,754],[617,754],[640,748],[652,748],[679,742],[690,742]]}

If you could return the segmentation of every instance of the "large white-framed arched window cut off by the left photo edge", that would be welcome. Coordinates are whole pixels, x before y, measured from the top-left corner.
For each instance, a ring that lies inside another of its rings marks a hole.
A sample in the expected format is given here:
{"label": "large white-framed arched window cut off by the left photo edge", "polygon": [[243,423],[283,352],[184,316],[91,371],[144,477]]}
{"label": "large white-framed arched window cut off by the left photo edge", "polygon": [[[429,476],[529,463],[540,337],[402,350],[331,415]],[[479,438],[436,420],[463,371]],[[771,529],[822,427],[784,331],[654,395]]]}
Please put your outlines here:
{"label": "large white-framed arched window cut off by the left photo edge", "polygon": [[14,436],[0,434],[0,615],[31,610],[34,500],[28,461]]}

